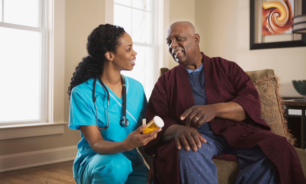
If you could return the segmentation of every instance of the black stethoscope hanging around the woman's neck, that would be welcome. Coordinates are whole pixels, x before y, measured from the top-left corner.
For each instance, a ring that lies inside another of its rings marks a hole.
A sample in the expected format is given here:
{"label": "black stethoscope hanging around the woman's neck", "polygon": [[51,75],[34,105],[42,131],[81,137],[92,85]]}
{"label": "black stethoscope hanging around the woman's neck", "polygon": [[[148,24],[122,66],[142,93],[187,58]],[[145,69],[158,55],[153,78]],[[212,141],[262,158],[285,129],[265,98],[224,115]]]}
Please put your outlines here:
{"label": "black stethoscope hanging around the woman's neck", "polygon": [[[96,97],[95,97],[95,83],[97,82],[97,79],[102,84],[103,88],[106,90],[106,93],[107,93],[107,111],[106,111],[106,114],[107,114],[107,122],[108,122],[108,124],[104,128],[100,128],[98,126],[98,110],[97,110],[97,105],[95,103],[95,101],[96,101]],[[123,106],[123,113],[122,113],[122,119],[120,120],[119,123],[120,123],[121,126],[127,127],[129,125],[129,120],[126,118],[126,87],[125,87],[125,80],[123,79],[122,75],[121,75],[121,84],[122,84],[122,100],[123,100],[122,106]],[[109,104],[109,101],[110,101],[110,93],[108,92],[106,86],[102,82],[100,74],[95,77],[94,83],[92,84],[92,101],[95,104],[96,125],[97,125],[97,128],[99,130],[105,130],[106,128],[108,128],[110,126],[110,120],[108,119],[108,104]]]}

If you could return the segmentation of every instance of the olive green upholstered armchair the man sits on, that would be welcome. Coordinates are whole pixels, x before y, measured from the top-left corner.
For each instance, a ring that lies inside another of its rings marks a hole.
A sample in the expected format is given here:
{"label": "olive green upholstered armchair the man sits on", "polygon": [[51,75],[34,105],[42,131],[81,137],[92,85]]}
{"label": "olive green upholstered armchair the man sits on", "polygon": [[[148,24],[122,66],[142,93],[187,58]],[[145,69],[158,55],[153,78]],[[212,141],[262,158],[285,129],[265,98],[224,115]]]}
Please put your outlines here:
{"label": "olive green upholstered armchair the man sits on", "polygon": [[[159,74],[162,75],[167,71],[169,71],[168,68],[161,68]],[[274,75],[274,70],[265,69],[259,71],[246,71],[246,73],[251,77],[252,82],[255,83],[256,80],[258,79]],[[306,176],[306,151],[300,148],[295,148],[295,150],[299,155],[303,167],[303,172],[304,175]],[[224,161],[224,160],[216,160],[216,159],[212,159],[212,161],[217,166],[217,175],[218,175],[219,184],[234,184],[239,172],[238,163]]]}

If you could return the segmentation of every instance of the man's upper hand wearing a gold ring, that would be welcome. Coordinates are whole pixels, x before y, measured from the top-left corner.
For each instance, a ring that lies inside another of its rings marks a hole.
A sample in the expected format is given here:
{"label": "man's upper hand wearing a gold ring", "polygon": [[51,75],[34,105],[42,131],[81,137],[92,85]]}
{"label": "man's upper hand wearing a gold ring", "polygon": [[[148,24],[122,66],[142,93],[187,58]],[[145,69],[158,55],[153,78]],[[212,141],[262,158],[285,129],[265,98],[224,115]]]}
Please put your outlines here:
{"label": "man's upper hand wearing a gold ring", "polygon": [[199,128],[203,123],[213,120],[216,117],[214,105],[195,105],[187,109],[181,116],[181,120],[186,119],[186,126],[195,125]]}

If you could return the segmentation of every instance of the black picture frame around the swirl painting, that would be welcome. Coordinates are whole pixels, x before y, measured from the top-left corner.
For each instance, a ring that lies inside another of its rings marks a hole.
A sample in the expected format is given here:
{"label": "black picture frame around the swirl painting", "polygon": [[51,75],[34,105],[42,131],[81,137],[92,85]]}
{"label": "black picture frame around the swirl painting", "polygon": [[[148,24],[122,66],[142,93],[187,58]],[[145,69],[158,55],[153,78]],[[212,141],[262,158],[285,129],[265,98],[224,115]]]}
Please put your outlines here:
{"label": "black picture frame around the swirl painting", "polygon": [[[302,0],[302,14],[306,14],[306,0]],[[306,34],[302,34],[302,40],[281,41],[271,43],[255,43],[255,0],[250,0],[250,50],[265,48],[285,48],[306,46]]]}

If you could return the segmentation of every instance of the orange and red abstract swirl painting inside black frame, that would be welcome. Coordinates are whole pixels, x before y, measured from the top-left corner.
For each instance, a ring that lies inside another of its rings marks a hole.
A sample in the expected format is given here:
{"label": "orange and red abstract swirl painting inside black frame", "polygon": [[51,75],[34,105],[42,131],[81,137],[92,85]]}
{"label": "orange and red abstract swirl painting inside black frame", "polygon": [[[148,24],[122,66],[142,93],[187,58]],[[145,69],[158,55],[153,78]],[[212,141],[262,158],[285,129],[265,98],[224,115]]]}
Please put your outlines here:
{"label": "orange and red abstract swirl painting inside black frame", "polygon": [[263,2],[262,35],[291,33],[293,13],[294,0]]}

